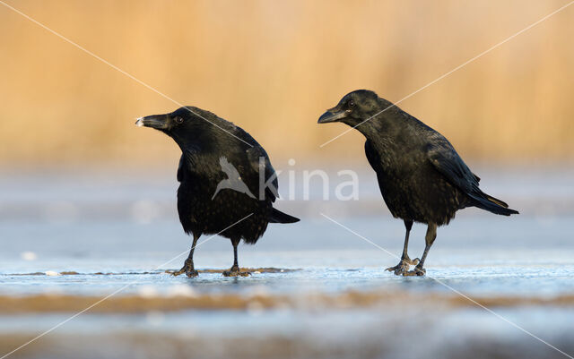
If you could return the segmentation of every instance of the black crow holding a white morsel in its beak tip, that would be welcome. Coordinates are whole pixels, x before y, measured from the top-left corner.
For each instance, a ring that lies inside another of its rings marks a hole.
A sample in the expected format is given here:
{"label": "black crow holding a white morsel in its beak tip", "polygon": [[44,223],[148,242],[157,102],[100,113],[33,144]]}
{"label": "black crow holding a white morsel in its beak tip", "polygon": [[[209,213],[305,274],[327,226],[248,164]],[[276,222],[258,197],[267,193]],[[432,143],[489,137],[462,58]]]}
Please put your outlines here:
{"label": "black crow holding a white morsel in its beak tip", "polygon": [[233,245],[233,266],[223,275],[248,276],[239,270],[241,239],[256,244],[267,224],[299,221],[273,208],[278,197],[274,167],[263,147],[239,126],[197,107],[141,117],[135,124],[164,132],[182,152],[178,215],[186,234],[193,235],[193,244],[183,268],[173,275],[196,277],[197,240],[203,234],[217,234],[230,238]]}

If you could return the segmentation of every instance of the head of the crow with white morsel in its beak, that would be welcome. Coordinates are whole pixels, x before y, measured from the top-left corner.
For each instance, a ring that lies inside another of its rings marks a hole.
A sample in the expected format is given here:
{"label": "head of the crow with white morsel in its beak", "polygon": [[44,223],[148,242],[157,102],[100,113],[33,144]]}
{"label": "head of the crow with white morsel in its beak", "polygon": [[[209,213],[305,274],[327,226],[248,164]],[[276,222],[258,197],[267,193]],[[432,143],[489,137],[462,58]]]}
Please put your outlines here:
{"label": "head of the crow with white morsel in its beak", "polygon": [[205,117],[212,118],[213,114],[197,107],[179,107],[170,114],[140,117],[135,124],[164,132],[183,148],[207,136],[213,124]]}

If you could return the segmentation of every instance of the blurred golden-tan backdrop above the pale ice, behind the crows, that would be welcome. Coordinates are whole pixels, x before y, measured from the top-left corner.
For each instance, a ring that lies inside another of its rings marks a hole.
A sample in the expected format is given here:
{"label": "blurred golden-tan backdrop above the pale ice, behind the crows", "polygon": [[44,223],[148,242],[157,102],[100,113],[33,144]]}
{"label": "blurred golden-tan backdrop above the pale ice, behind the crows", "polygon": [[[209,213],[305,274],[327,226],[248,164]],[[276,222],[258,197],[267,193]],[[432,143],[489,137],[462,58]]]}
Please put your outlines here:
{"label": "blurred golden-tan backdrop above the pale ice, behind the crows", "polygon": [[[363,157],[361,135],[318,128],[347,92],[390,101],[420,89],[563,1],[18,1],[50,29],[181,104],[254,135],[272,158]],[[574,156],[574,27],[564,11],[399,106],[464,158]],[[178,107],[3,8],[4,166],[160,166],[175,144],[135,117]],[[90,166],[90,165],[88,165]]]}

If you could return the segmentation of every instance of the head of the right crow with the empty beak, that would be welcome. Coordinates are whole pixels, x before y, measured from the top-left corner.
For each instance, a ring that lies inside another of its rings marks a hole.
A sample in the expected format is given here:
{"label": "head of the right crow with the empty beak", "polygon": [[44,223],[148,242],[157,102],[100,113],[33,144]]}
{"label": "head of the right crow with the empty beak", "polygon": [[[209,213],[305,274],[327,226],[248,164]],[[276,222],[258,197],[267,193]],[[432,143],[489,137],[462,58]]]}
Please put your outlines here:
{"label": "head of the right crow with the empty beak", "polygon": [[370,90],[355,90],[341,98],[337,106],[326,110],[319,117],[318,124],[342,122],[350,126],[361,124],[380,111],[380,101],[377,94]]}

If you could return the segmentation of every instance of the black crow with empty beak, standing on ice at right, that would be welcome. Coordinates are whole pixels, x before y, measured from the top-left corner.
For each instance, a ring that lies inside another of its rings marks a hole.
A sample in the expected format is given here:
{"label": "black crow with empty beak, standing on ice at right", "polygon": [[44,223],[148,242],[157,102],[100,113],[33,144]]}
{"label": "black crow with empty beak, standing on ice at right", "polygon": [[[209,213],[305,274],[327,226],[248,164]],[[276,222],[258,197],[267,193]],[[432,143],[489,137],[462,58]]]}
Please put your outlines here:
{"label": "black crow with empty beak, standing on ice at right", "polygon": [[[426,273],[422,266],[437,236],[437,227],[448,225],[458,209],[478,207],[504,216],[518,213],[481,191],[480,178],[443,135],[373,91],[348,93],[317,121],[332,122],[347,124],[365,136],[365,153],[377,173],[383,199],[393,217],[404,220],[401,261],[387,268],[396,275]],[[420,260],[411,260],[407,254],[413,222],[428,225]],[[409,270],[410,265],[415,265],[413,270]]]}

